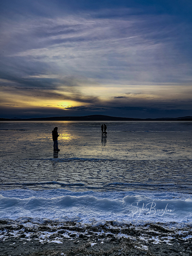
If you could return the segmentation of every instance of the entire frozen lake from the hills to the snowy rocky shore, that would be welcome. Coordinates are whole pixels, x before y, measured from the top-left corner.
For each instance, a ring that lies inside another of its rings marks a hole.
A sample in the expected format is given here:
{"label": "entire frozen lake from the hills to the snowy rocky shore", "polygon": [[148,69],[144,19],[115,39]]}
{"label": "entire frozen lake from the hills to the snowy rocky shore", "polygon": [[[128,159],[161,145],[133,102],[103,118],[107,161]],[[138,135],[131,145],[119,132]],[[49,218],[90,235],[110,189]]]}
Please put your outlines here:
{"label": "entire frozen lake from the hills to the snowy rocky shore", "polygon": [[105,123],[0,122],[0,218],[192,223],[192,122]]}

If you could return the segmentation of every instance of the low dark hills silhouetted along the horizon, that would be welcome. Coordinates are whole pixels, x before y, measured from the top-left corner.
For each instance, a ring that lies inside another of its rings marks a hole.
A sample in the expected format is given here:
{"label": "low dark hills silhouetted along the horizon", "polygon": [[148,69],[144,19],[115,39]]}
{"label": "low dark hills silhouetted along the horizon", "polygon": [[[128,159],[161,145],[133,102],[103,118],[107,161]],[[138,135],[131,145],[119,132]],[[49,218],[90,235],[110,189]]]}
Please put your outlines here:
{"label": "low dark hills silhouetted along the horizon", "polygon": [[90,116],[53,116],[53,117],[40,117],[40,118],[26,118],[20,119],[14,117],[0,118],[0,121],[192,121],[192,116],[183,117],[162,117],[162,118],[128,118],[104,115],[90,115]]}

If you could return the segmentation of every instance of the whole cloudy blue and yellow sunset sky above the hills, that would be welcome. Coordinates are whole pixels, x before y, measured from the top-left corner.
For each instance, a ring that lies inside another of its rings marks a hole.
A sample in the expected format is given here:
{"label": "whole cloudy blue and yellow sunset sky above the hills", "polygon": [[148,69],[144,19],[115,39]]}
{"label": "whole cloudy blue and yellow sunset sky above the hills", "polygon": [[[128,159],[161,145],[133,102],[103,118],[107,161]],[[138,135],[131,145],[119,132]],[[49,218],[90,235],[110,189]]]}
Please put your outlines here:
{"label": "whole cloudy blue and yellow sunset sky above the hills", "polygon": [[192,116],[191,0],[2,0],[0,117]]}

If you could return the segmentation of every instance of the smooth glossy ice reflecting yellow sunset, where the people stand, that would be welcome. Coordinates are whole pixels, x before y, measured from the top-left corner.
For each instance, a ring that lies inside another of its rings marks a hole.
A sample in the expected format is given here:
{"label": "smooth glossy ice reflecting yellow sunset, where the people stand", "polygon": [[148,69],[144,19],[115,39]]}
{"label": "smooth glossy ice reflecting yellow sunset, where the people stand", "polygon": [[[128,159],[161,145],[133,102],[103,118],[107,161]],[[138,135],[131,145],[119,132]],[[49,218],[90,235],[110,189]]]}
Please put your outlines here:
{"label": "smooth glossy ice reflecting yellow sunset, where the people stand", "polygon": [[[107,138],[101,124],[0,122],[0,158],[191,159],[192,122],[106,122]],[[61,151],[53,155],[56,125]]]}

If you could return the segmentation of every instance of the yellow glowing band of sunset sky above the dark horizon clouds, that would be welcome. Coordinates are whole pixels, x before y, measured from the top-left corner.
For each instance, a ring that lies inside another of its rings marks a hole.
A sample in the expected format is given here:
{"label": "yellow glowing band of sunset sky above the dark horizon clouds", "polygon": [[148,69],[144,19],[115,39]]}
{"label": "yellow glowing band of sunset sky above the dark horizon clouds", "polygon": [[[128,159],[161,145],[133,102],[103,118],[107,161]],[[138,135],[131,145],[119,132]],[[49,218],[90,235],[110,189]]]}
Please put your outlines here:
{"label": "yellow glowing band of sunset sky above the dark horizon clouds", "polygon": [[[192,94],[192,88],[189,85],[181,84],[156,84],[156,85],[86,85],[81,87],[73,86],[70,91],[65,87],[59,87],[56,90],[20,90],[2,89],[0,93],[1,104],[14,105],[14,107],[46,107],[68,109],[71,107],[88,106],[91,104],[132,104],[138,105],[139,102],[148,104],[154,103],[154,100],[188,100]],[[93,101],[91,100],[93,98]],[[62,100],[62,98],[64,100]],[[66,99],[74,100],[66,100]],[[94,98],[96,100],[94,101]],[[89,100],[87,100],[89,99]]]}

